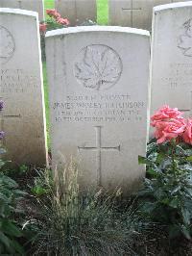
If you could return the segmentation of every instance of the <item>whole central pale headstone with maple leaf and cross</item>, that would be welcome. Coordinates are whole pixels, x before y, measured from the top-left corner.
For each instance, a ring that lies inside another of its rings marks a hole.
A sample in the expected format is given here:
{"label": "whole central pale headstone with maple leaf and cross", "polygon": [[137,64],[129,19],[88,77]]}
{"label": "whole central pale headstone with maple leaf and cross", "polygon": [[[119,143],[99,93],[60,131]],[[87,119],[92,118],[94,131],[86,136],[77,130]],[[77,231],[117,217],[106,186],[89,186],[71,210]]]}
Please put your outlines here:
{"label": "whole central pale headstone with maple leaf and cross", "polygon": [[132,191],[145,174],[149,48],[142,30],[47,33],[53,166],[77,158],[84,187]]}

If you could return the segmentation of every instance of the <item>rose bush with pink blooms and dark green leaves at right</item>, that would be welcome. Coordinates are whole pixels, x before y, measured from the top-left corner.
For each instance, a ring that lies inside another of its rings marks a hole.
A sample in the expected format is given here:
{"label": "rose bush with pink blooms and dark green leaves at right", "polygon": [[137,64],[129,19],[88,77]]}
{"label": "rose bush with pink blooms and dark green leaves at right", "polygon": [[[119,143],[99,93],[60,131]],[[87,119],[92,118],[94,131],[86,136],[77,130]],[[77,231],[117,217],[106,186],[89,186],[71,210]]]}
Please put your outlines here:
{"label": "rose bush with pink blooms and dark green leaves at right", "polygon": [[170,238],[192,236],[192,118],[164,106],[151,117],[155,138],[148,143],[140,213],[167,227]]}

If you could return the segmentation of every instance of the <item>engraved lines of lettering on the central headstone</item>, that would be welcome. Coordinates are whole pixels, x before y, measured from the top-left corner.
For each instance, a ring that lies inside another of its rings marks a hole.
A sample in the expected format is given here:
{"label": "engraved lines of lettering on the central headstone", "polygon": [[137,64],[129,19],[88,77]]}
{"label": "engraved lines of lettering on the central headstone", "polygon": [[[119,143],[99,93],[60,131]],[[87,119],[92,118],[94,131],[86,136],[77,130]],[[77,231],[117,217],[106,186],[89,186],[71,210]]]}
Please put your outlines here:
{"label": "engraved lines of lettering on the central headstone", "polygon": [[138,122],[143,120],[145,103],[129,94],[67,94],[54,102],[55,122]]}

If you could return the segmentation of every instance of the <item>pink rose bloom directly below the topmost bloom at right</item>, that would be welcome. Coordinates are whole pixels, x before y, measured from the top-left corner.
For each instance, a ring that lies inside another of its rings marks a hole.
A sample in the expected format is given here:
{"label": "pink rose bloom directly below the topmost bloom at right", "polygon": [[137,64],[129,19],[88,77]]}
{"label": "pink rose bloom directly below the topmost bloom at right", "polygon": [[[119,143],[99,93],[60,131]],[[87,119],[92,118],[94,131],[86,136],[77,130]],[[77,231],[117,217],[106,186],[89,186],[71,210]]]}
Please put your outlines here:
{"label": "pink rose bloom directly below the topmost bloom at right", "polygon": [[183,118],[172,119],[171,121],[156,122],[155,137],[157,143],[171,141],[178,138],[184,132],[186,123]]}

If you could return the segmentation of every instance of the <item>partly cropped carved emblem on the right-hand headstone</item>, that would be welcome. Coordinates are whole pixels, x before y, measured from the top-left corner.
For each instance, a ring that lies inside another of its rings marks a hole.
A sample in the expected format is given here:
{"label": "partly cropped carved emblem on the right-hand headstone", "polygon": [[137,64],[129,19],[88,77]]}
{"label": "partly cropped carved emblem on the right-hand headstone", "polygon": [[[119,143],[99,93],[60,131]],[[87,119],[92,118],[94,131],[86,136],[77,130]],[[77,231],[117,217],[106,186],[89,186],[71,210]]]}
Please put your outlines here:
{"label": "partly cropped carved emblem on the right-hand headstone", "polygon": [[192,57],[192,18],[184,22],[182,27],[183,34],[178,39],[178,47],[184,56]]}

